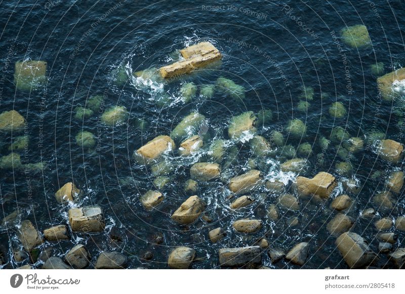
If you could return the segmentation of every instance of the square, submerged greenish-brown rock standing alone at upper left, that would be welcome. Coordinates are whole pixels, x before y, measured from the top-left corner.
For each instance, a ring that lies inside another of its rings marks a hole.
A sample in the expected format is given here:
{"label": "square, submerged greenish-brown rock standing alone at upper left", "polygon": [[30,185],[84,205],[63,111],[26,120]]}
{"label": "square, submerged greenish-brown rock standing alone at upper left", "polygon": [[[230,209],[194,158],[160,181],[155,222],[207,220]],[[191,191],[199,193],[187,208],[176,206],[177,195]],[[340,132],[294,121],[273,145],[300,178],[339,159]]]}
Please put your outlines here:
{"label": "square, submerged greenish-brown rock standing alone at upper left", "polygon": [[22,91],[36,90],[47,82],[47,62],[18,61],[15,64],[14,83]]}

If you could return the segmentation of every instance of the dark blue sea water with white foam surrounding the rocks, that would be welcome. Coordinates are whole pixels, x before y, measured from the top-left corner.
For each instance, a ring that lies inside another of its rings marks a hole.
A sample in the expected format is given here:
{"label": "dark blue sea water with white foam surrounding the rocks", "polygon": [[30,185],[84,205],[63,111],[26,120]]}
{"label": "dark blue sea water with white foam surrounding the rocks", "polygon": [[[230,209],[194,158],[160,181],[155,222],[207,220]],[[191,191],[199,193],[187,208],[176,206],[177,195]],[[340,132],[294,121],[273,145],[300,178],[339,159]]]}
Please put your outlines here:
{"label": "dark blue sea water with white foam surrounding the rocks", "polygon": [[[212,5],[218,7],[212,7]],[[269,137],[274,129],[284,129],[292,118],[301,119],[307,135],[301,140],[288,138],[287,144],[297,147],[309,142],[313,147],[310,176],[327,171],[338,177],[335,164],[338,147],[325,153],[323,165],[316,165],[320,136],[329,137],[334,127],[346,129],[351,136],[362,137],[374,127],[386,138],[405,142],[398,122],[402,119],[400,103],[384,102],[378,96],[376,76],[370,65],[384,63],[385,73],[404,65],[405,3],[401,0],[350,2],[335,1],[193,1],[138,2],[121,1],[116,4],[97,1],[92,4],[74,1],[3,1],[0,4],[0,63],[2,91],[0,112],[17,110],[28,121],[30,163],[45,162],[46,167],[36,174],[1,170],[0,193],[2,217],[18,209],[21,219],[30,219],[38,230],[55,224],[67,224],[69,207],[58,205],[54,193],[64,183],[74,181],[85,192],[80,205],[100,205],[106,218],[106,229],[99,234],[72,233],[71,240],[46,242],[41,251],[53,247],[55,255],[63,256],[75,243],[86,244],[93,260],[101,251],[117,250],[130,258],[129,268],[167,268],[167,256],[176,246],[196,250],[199,261],[192,268],[217,268],[218,250],[223,247],[242,247],[255,243],[265,235],[271,247],[291,249],[299,241],[310,242],[310,255],[304,268],[346,268],[329,236],[326,223],[333,217],[329,202],[308,205],[299,214],[287,213],[277,223],[266,217],[266,208],[274,203],[275,195],[241,212],[231,212],[227,206],[226,182],[202,183],[198,195],[208,203],[207,214],[213,222],[198,220],[181,227],[170,215],[187,198],[183,183],[189,177],[189,167],[198,156],[179,160],[171,175],[166,200],[157,211],[147,212],[140,205],[139,195],[153,189],[150,171],[132,160],[134,150],[171,129],[190,111],[198,111],[208,118],[209,133],[214,138],[227,139],[227,124],[232,115],[245,111],[257,113],[271,109],[273,119],[259,134]],[[300,19],[298,19],[300,18]],[[350,48],[339,39],[346,26],[367,26],[372,45]],[[305,29],[304,29],[305,28]],[[173,52],[199,41],[212,42],[223,54],[222,64],[211,71],[184,76],[171,83],[157,82],[152,87],[135,78],[124,84],[114,80],[114,72],[124,67],[128,72],[160,67],[173,62]],[[342,47],[339,51],[339,46]],[[343,56],[347,64],[343,62]],[[35,91],[19,91],[14,85],[14,63],[20,60],[48,62],[48,82]],[[348,68],[345,66],[348,65]],[[349,79],[346,79],[349,70]],[[179,101],[177,92],[184,81],[196,85],[214,83],[227,77],[246,89],[243,102],[234,102],[223,94],[215,94],[210,101],[196,98],[188,104]],[[314,89],[308,111],[300,112],[297,104],[302,87]],[[125,106],[130,112],[126,123],[108,127],[96,114],[84,121],[73,119],[73,110],[85,106],[90,96],[101,94],[101,111],[111,106]],[[165,107],[157,101],[169,96]],[[342,102],[347,115],[334,119],[329,115],[333,102]],[[140,121],[145,122],[140,127]],[[75,135],[88,130],[97,136],[97,150],[87,151],[76,145]],[[10,134],[1,134],[1,156],[8,155]],[[209,145],[209,143],[207,144]],[[339,144],[338,144],[339,145]],[[240,173],[252,157],[248,144],[237,144],[239,151],[231,168],[231,175]],[[274,159],[277,162],[277,159]],[[359,212],[373,207],[373,194],[383,190],[384,179],[371,179],[375,171],[402,169],[377,159],[372,148],[350,159],[353,165],[350,178],[359,181],[361,191],[351,195],[356,208],[348,214],[356,219],[353,231],[365,237],[378,249],[376,231],[370,221],[359,219]],[[271,165],[271,164],[270,164]],[[268,175],[276,166],[266,165]],[[129,184],[123,184],[126,180]],[[258,197],[257,190],[253,192]],[[32,195],[31,195],[32,194]],[[402,194],[396,196],[396,212],[403,214]],[[297,215],[300,225],[289,228],[286,219]],[[387,215],[384,215],[387,216]],[[240,217],[256,217],[264,221],[256,234],[233,232],[232,221]],[[223,226],[227,236],[212,244],[210,229]],[[155,236],[164,242],[156,244]],[[404,234],[398,232],[395,247],[404,246]],[[112,242],[114,239],[116,242]],[[14,227],[3,227],[0,248],[3,268],[15,268],[29,263],[16,263],[12,251],[19,248]],[[145,252],[153,253],[150,261]],[[272,265],[267,254],[263,264],[271,268],[296,268],[287,262]],[[37,262],[35,266],[41,266]],[[391,267],[381,254],[377,267]]]}

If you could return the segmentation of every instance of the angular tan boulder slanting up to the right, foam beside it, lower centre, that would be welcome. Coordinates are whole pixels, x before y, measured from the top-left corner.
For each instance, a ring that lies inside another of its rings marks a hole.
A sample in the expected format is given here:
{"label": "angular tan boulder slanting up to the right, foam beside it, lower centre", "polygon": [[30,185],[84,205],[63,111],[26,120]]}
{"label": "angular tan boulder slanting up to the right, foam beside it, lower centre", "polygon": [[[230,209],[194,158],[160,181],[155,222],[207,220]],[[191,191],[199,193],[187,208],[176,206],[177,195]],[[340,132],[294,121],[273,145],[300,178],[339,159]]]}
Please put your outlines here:
{"label": "angular tan boulder slanting up to the right, foam beside it, lower centre", "polygon": [[200,216],[206,206],[197,195],[191,196],[173,213],[172,219],[179,224],[190,224]]}

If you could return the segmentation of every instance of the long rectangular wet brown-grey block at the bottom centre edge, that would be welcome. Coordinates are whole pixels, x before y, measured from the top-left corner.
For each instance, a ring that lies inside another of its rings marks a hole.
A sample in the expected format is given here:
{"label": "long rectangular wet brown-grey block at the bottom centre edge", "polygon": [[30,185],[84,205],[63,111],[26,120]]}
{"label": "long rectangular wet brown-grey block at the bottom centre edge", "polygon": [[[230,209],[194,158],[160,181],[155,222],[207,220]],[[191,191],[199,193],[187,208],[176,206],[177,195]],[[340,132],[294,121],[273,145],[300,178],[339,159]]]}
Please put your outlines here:
{"label": "long rectangular wet brown-grey block at the bottom centre edge", "polygon": [[223,267],[261,264],[262,254],[260,247],[221,248],[219,250],[219,263]]}

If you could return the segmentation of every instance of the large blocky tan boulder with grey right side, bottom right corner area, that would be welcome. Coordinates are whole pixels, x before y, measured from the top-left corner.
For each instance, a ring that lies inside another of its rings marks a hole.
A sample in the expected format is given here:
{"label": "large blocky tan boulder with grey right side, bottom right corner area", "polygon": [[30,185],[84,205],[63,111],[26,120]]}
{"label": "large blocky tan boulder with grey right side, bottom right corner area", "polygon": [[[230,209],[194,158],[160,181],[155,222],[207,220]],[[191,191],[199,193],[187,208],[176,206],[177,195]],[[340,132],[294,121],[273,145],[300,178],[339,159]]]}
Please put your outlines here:
{"label": "large blocky tan boulder with grey right side, bottom right corner area", "polygon": [[345,232],[336,239],[337,247],[350,268],[371,265],[377,255],[369,248],[365,239],[353,232]]}

